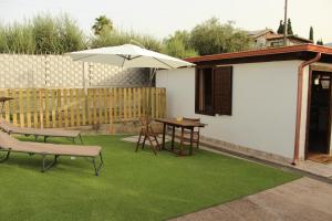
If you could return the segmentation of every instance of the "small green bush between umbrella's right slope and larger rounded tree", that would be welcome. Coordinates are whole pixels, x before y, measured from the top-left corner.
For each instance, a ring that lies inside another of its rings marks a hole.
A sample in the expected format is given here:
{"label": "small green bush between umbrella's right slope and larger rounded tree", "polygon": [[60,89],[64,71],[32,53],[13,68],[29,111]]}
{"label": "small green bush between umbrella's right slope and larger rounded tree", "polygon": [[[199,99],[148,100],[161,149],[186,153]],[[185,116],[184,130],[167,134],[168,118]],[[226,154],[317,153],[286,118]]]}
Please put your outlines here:
{"label": "small green bush between umbrella's right slope and larger rounded tree", "polygon": [[179,59],[198,55],[190,45],[190,33],[187,31],[176,31],[174,35],[165,39],[162,52]]}

